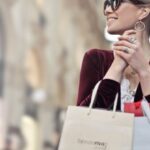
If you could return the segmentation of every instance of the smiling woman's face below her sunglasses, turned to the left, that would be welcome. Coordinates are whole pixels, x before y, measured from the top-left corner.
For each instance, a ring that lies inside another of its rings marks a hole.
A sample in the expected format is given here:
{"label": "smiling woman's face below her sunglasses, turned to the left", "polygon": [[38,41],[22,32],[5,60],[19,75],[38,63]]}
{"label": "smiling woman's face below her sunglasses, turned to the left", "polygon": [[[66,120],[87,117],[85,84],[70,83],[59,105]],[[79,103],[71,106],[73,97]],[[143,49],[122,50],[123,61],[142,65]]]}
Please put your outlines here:
{"label": "smiling woman's face below her sunglasses, turned to the left", "polygon": [[134,29],[140,9],[130,1],[121,2],[117,10],[107,6],[104,10],[107,18],[107,31],[110,34],[123,34],[125,30]]}

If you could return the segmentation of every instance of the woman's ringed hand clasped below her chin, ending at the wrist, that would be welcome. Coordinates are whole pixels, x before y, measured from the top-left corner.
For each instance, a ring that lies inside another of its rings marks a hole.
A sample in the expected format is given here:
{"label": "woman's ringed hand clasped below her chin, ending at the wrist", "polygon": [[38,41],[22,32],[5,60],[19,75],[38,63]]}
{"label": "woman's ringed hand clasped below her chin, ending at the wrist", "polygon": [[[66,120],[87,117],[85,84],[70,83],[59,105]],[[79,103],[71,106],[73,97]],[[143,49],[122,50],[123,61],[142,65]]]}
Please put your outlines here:
{"label": "woman's ringed hand clasped below her chin, ending at the wrist", "polygon": [[114,50],[116,55],[124,59],[140,76],[149,68],[149,60],[146,59],[138,33],[134,30],[129,30],[128,33],[130,34],[119,37],[119,41],[114,44]]}

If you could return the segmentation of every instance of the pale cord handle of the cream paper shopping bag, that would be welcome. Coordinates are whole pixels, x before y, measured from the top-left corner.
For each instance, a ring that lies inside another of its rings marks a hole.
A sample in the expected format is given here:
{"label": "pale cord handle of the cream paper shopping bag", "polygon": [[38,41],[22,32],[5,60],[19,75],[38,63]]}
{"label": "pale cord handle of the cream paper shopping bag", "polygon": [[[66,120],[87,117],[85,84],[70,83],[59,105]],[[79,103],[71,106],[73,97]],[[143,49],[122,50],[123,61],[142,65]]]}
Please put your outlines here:
{"label": "pale cord handle of the cream paper shopping bag", "polygon": [[[98,91],[100,83],[101,83],[101,80],[97,82],[97,84],[95,85],[95,87],[93,89],[92,96],[91,96],[91,102],[90,102],[90,105],[89,105],[88,115],[91,114],[91,110],[92,110],[92,107],[93,107],[94,102],[96,100],[97,91]],[[115,97],[115,101],[114,101],[114,105],[113,105],[113,115],[112,115],[112,117],[115,117],[115,112],[116,112],[116,109],[117,109],[117,103],[118,103],[118,93],[116,94],[116,97]]]}

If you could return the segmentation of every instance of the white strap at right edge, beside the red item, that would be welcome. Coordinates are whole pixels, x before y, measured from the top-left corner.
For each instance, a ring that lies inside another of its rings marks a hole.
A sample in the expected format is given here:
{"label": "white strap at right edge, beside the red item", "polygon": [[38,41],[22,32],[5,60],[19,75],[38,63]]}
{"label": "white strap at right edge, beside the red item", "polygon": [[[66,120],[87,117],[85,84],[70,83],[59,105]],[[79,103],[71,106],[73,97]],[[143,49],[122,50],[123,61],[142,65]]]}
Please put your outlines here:
{"label": "white strap at right edge, beside the red item", "polygon": [[147,117],[148,121],[150,122],[150,107],[145,97],[141,101],[141,106],[142,106],[144,115]]}

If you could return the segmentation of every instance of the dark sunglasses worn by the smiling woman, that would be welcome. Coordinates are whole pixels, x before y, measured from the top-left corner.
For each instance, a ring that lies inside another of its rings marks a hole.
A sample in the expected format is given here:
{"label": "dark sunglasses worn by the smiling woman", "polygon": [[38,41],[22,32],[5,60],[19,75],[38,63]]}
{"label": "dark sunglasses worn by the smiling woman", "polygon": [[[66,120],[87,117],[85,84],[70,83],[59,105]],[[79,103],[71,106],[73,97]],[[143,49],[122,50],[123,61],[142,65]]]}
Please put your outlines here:
{"label": "dark sunglasses worn by the smiling woman", "polygon": [[121,3],[123,2],[130,2],[132,4],[135,4],[135,5],[139,5],[139,4],[145,4],[144,2],[142,1],[139,1],[139,0],[105,0],[104,2],[104,11],[107,7],[111,7],[111,9],[113,11],[117,10],[120,6]]}

